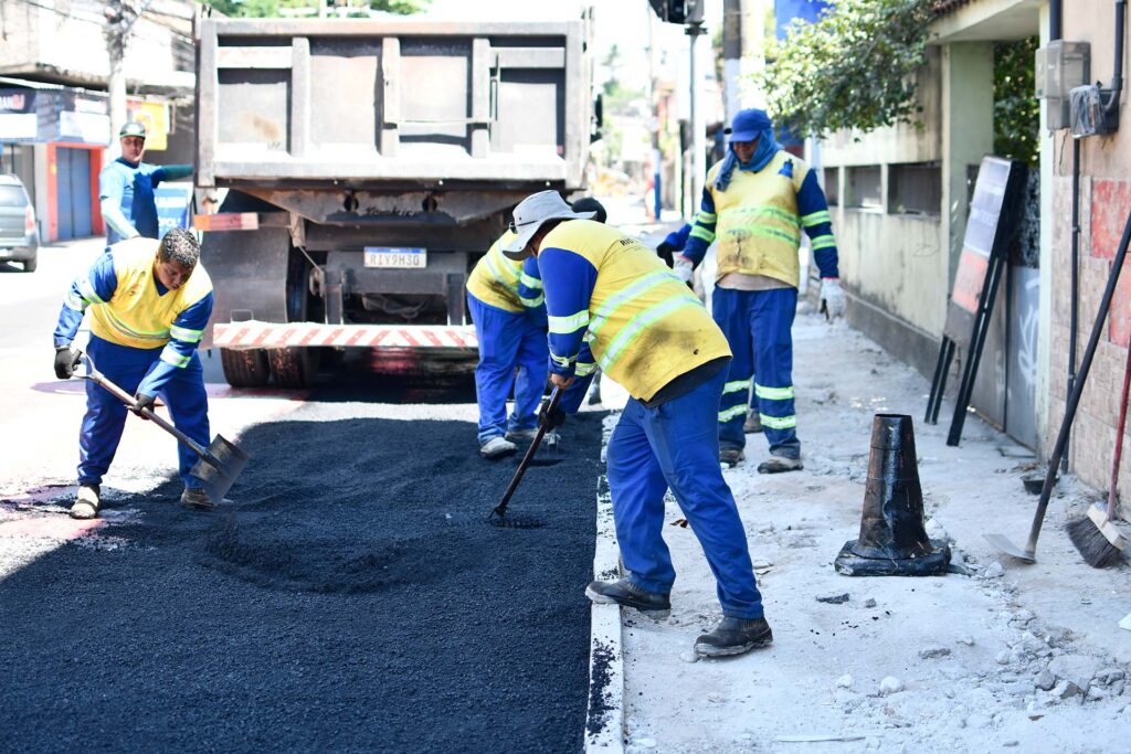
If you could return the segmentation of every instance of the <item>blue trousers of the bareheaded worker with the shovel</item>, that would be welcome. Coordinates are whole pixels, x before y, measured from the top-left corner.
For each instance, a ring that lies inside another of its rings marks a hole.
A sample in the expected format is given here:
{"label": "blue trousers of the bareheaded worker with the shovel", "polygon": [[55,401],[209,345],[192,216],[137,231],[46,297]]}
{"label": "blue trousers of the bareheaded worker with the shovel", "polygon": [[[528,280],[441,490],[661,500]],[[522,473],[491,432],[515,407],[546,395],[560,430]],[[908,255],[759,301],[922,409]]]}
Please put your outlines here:
{"label": "blue trousers of the bareheaded worker with the shovel", "polygon": [[[95,367],[107,380],[132,396],[145,375],[158,363],[162,349],[120,346],[92,335],[86,352],[94,361]],[[193,352],[188,365],[182,370],[175,370],[174,376],[158,391],[158,395],[169,407],[173,426],[207,447],[208,396],[205,392],[200,356]],[[128,413],[122,401],[87,380],[86,416],[83,417],[83,428],[78,439],[79,484],[102,484],[102,477],[118,451]],[[161,432],[157,427],[153,427],[153,431]],[[189,476],[189,471],[198,460],[197,454],[179,442],[176,457],[184,486],[199,488],[200,480]]]}

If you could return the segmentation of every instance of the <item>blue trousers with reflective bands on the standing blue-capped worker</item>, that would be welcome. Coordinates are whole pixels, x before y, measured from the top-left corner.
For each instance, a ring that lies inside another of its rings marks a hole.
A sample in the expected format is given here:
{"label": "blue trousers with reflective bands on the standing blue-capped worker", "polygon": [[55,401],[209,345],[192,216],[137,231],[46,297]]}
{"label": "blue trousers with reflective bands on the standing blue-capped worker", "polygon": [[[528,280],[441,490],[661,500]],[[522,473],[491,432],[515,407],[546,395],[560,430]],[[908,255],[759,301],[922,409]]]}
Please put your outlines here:
{"label": "blue trousers with reflective bands on the standing blue-capped worker", "polygon": [[793,392],[792,330],[797,289],[715,288],[711,309],[734,354],[718,408],[719,444],[745,447],[742,424],[746,418],[746,396],[753,388],[770,453],[801,458]]}

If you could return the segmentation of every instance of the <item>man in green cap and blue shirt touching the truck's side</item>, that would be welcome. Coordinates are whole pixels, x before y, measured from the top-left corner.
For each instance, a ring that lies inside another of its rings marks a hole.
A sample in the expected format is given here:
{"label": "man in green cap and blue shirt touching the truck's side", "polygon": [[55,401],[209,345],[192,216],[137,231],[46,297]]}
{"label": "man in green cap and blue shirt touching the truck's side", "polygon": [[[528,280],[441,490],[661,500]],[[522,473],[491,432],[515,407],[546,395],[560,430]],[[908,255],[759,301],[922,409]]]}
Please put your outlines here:
{"label": "man in green cap and blue shirt touching the truck's side", "polygon": [[150,165],[141,162],[146,130],[127,123],[118,132],[122,156],[98,175],[98,199],[106,222],[106,251],[119,241],[158,234],[157,199],[154,190],[163,181],[192,175],[192,165]]}

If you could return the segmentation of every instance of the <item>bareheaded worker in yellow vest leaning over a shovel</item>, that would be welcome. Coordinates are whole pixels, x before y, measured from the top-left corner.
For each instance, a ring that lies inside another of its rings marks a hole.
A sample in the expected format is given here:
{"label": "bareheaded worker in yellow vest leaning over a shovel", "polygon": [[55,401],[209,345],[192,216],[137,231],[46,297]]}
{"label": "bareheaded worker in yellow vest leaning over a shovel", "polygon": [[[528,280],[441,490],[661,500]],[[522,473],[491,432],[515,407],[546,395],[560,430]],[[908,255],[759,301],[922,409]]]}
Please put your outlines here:
{"label": "bareheaded worker in yellow vest leaning over a shovel", "polygon": [[[139,416],[161,396],[174,426],[207,445],[208,397],[197,346],[211,317],[213,286],[199,259],[196,237],[183,228],[173,228],[161,241],[132,239],[111,246],[67,292],[54,332],[54,370],[60,380],[74,375],[78,359],[71,343],[89,309],[87,354],[98,371],[133,393]],[[127,410],[87,381],[72,518],[98,514],[102,479],[118,450]],[[189,474],[196,454],[183,444],[176,450],[184,483],[181,503],[213,508],[200,480]]]}

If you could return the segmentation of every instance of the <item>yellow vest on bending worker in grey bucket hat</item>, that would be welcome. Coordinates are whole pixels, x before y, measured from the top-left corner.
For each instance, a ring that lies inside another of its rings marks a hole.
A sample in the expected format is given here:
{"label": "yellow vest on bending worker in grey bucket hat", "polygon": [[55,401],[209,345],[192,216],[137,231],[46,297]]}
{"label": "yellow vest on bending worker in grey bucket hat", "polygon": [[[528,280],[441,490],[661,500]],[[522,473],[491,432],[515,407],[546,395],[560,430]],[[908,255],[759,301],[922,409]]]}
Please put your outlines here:
{"label": "yellow vest on bending worker in grey bucket hat", "polygon": [[651,249],[593,220],[561,223],[542,248],[580,254],[597,269],[589,309],[551,317],[550,331],[586,339],[601,369],[639,400],[691,370],[731,356],[726,337],[702,303]]}

